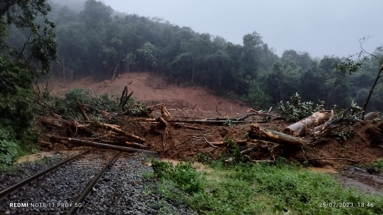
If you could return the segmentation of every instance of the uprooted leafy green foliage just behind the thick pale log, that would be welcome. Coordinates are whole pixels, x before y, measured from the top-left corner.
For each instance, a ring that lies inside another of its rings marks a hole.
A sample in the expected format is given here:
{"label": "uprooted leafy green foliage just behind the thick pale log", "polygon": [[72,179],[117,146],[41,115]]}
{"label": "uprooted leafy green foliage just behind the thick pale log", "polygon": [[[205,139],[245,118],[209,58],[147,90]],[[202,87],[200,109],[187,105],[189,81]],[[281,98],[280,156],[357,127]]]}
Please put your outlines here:
{"label": "uprooted leafy green foliage just behind the thick pale log", "polygon": [[286,117],[286,121],[298,121],[305,117],[311,116],[313,112],[323,109],[324,101],[318,101],[318,103],[302,102],[298,93],[291,96],[290,101],[281,101],[277,109],[279,114]]}

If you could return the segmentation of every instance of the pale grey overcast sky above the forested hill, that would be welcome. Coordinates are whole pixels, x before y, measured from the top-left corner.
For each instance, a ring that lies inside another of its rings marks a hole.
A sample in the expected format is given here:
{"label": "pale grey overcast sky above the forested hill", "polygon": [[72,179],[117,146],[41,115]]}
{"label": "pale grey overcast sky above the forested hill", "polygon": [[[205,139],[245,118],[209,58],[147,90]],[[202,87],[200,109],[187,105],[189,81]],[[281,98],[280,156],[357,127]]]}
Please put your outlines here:
{"label": "pale grey overcast sky above the forested hill", "polygon": [[242,44],[257,31],[276,54],[307,51],[312,57],[355,54],[383,45],[383,0],[105,0],[114,10],[161,17],[200,33]]}

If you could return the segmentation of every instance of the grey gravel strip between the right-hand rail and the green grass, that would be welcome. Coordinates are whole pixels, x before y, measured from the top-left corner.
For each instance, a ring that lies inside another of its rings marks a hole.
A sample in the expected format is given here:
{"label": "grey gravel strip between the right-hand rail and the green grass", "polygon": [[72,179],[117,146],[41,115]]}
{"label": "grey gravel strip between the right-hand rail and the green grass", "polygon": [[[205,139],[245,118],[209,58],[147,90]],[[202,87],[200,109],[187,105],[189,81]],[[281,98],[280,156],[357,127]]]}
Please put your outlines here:
{"label": "grey gravel strip between the right-hand rail and the green grass", "polygon": [[156,183],[142,177],[142,174],[152,171],[150,166],[142,164],[143,158],[149,160],[141,153],[118,158],[77,214],[197,214],[185,205],[165,200],[161,195],[148,191],[156,189]]}

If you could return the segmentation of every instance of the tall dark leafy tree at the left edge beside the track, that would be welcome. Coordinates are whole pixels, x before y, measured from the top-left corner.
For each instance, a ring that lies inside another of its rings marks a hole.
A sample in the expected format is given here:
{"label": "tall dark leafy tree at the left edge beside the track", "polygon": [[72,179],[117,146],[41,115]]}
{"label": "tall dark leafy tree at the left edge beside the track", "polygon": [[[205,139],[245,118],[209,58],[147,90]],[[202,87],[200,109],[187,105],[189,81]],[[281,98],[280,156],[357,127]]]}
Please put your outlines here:
{"label": "tall dark leafy tree at the left edge beside the track", "polygon": [[[29,130],[37,103],[32,85],[50,72],[50,63],[57,57],[55,24],[45,18],[50,10],[46,0],[0,3],[0,163],[11,163],[18,145],[34,137]],[[37,23],[40,15],[43,23]],[[10,28],[27,33],[23,44],[9,43]]]}

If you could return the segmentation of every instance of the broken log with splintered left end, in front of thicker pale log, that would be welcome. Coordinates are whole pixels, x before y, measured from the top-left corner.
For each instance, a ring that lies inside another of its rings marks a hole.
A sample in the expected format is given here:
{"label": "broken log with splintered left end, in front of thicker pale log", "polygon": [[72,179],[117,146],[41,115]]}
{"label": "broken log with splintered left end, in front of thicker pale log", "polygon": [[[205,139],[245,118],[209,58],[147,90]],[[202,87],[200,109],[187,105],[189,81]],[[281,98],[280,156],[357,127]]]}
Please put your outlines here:
{"label": "broken log with splintered left end, in front of thicker pale log", "polygon": [[279,143],[281,145],[302,146],[306,143],[306,140],[303,138],[293,137],[281,132],[264,129],[259,127],[257,124],[250,125],[249,137]]}

